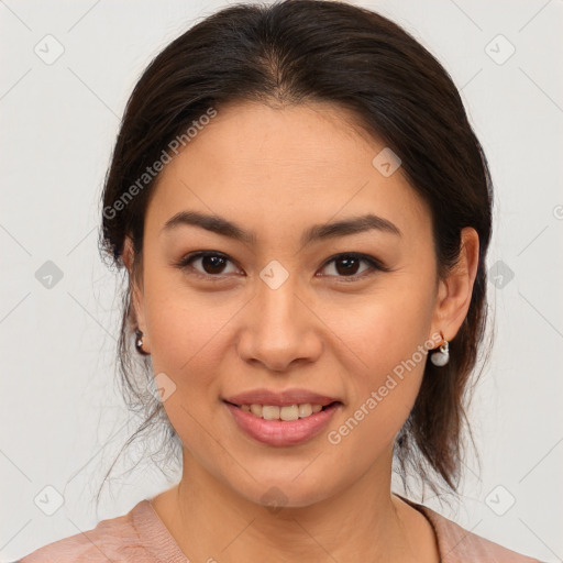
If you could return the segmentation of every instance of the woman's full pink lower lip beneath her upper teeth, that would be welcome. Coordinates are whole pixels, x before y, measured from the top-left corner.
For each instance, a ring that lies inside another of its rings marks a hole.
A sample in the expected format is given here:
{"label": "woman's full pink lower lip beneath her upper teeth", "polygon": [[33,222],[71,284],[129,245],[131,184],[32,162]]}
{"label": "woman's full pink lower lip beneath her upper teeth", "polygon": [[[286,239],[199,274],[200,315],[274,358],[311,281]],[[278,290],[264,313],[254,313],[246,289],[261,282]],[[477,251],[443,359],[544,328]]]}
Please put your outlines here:
{"label": "woman's full pink lower lip beneath her upper teeth", "polygon": [[329,407],[313,415],[297,420],[265,420],[246,412],[240,407],[223,401],[231,411],[239,428],[251,438],[268,445],[296,445],[311,438],[328,426],[341,402],[333,402]]}

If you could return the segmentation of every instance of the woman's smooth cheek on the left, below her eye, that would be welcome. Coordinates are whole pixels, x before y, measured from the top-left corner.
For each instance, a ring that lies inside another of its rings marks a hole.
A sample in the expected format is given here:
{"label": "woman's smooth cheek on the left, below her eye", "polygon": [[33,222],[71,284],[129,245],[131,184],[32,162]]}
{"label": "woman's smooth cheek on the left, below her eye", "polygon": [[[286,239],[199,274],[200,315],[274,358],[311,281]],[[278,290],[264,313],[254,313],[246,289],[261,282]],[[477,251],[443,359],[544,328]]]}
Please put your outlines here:
{"label": "woman's smooth cheek on the left, below her eye", "polygon": [[157,384],[159,374],[166,375],[163,380],[173,389],[164,401],[166,415],[192,452],[210,448],[202,429],[212,432],[213,405],[221,394],[217,374],[224,357],[229,320],[239,308],[229,300],[221,303],[217,294],[196,297],[174,284],[145,286],[153,371]]}

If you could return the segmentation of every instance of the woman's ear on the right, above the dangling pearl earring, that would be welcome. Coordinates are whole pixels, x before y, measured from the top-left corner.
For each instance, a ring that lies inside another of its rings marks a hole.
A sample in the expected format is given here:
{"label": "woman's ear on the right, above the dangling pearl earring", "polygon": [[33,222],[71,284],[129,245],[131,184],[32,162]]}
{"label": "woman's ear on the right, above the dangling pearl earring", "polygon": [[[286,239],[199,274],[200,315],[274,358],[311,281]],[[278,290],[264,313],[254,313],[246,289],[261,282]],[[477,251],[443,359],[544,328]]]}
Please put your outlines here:
{"label": "woman's ear on the right, above the dangling pearl earring", "polygon": [[457,334],[470,309],[473,284],[477,275],[479,261],[479,238],[477,231],[466,227],[461,233],[461,252],[459,263],[452,268],[446,279],[439,283],[437,307],[432,321],[432,332],[442,332],[451,341]]}

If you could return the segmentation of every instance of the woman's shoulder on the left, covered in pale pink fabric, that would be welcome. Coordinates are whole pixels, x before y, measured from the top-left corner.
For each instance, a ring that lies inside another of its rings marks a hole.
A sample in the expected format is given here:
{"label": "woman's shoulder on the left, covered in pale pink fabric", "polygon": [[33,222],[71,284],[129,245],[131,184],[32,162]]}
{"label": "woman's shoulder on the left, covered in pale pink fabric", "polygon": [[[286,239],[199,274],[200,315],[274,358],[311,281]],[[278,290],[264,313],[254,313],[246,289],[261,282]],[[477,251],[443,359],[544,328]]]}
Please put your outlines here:
{"label": "woman's shoulder on the left, covered in pale pink fabric", "polygon": [[139,526],[146,503],[139,503],[126,515],[101,520],[91,530],[48,543],[15,563],[152,562],[154,558],[143,548]]}

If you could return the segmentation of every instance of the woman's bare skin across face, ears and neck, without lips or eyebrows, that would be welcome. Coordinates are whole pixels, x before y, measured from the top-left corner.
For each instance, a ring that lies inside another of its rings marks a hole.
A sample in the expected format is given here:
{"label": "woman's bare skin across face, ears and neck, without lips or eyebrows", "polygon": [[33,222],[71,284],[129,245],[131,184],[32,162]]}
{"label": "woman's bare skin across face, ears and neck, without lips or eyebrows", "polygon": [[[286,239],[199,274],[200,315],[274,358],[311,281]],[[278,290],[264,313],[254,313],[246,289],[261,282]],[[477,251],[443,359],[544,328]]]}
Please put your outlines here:
{"label": "woman's bare skin across face, ears and neck, without lips or eyebrows", "polygon": [[[164,407],[184,443],[181,481],[153,506],[194,562],[439,560],[429,522],[390,493],[394,440],[424,360],[339,444],[327,432],[292,446],[262,444],[222,402],[260,387],[301,387],[343,402],[334,430],[432,335],[455,336],[477,233],[464,229],[460,264],[439,280],[429,210],[400,168],[385,177],[373,166],[384,147],[329,104],[247,102],[219,108],[159,177],[133,302],[154,373],[176,385]],[[184,210],[219,214],[256,241],[189,225],[163,232]],[[366,212],[402,235],[371,230],[300,245],[307,228]],[[229,262],[176,265],[202,250]],[[350,252],[391,272],[362,261],[346,283],[345,268],[328,261]],[[132,272],[129,240],[124,256]],[[277,289],[260,277],[273,260],[288,273]],[[271,487],[285,496],[280,510],[265,506]]]}

